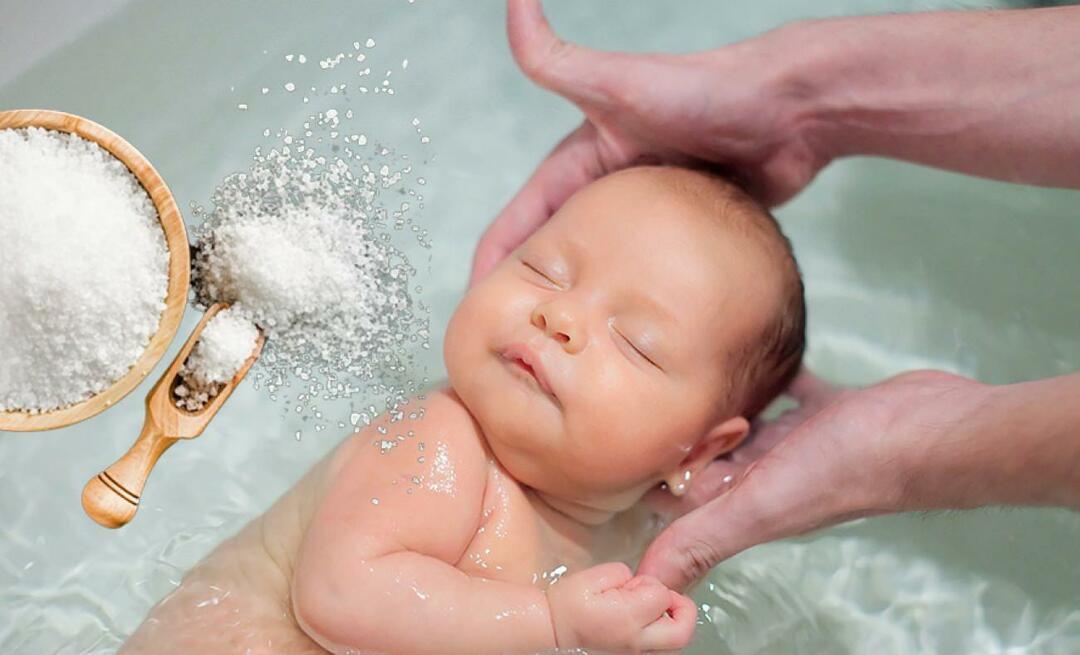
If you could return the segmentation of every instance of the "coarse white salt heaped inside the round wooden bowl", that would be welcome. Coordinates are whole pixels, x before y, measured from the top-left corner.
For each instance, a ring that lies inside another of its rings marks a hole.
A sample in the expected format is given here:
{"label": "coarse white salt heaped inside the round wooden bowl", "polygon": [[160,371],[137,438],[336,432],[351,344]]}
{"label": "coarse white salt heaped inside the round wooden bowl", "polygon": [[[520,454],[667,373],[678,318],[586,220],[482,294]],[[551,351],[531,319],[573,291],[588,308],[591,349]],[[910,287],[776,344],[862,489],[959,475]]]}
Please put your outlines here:
{"label": "coarse white salt heaped inside the round wooden bowl", "polygon": [[126,166],[80,136],[0,130],[0,411],[120,379],[158,329],[168,251]]}

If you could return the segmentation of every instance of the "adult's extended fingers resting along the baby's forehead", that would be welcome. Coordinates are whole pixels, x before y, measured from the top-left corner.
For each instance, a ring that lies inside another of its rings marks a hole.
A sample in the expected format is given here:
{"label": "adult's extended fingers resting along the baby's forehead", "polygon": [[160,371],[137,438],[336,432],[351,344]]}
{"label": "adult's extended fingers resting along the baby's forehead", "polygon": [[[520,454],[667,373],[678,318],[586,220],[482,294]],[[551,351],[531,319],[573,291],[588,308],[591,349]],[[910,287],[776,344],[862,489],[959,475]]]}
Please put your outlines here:
{"label": "adult's extended fingers resting along the baby's forehead", "polygon": [[604,175],[596,147],[596,129],[589,122],[555,146],[484,231],[473,256],[470,286],[528,239],[575,191]]}

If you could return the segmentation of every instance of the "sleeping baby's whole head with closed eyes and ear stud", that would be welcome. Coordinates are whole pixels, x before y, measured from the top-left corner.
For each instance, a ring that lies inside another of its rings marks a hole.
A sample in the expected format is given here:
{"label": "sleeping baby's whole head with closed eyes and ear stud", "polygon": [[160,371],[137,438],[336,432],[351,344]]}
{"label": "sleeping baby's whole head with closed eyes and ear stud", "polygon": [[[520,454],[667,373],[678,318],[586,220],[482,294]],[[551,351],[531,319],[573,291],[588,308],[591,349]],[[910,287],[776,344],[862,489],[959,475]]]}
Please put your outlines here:
{"label": "sleeping baby's whole head with closed eyes and ear stud", "polygon": [[805,324],[768,212],[707,173],[647,166],[579,191],[473,286],[444,357],[507,470],[603,516],[739,445],[798,370]]}

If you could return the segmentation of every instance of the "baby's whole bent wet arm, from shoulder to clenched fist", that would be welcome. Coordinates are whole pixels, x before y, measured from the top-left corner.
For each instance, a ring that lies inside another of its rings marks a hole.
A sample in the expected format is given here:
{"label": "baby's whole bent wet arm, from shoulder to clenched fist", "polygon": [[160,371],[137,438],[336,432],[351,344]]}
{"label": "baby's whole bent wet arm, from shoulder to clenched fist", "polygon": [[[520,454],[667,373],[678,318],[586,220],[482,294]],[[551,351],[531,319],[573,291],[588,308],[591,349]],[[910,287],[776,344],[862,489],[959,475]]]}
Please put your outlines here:
{"label": "baby's whole bent wet arm, from shoulder to clenched fist", "polygon": [[426,413],[381,424],[386,435],[365,430],[335,455],[293,578],[305,632],[336,653],[622,653],[689,642],[693,602],[624,564],[566,576],[548,593],[456,569],[483,520],[487,456],[446,396],[431,396]]}

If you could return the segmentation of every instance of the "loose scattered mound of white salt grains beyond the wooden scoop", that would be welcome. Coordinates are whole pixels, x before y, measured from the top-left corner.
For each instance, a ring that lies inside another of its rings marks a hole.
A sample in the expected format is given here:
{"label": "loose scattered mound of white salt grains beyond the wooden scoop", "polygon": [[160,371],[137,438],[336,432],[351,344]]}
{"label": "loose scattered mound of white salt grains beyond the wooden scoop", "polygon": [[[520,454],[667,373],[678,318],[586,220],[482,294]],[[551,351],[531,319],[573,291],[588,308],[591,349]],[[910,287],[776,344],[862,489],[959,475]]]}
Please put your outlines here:
{"label": "loose scattered mound of white salt grains beyond the wooden scoop", "polygon": [[[409,296],[416,271],[389,233],[416,227],[391,209],[401,206],[396,192],[417,196],[401,186],[413,169],[386,147],[367,160],[351,149],[322,153],[318,144],[323,135],[334,142],[339,125],[338,110],[327,109],[309,117],[306,136],[279,131],[280,145],[257,149],[247,172],[222,182],[212,211],[194,210],[203,218],[194,230],[195,304],[229,303],[262,329],[256,386],[313,417],[316,431],[321,401],[378,392],[388,405],[404,402],[417,390],[408,375],[414,349],[429,334],[427,308]],[[430,248],[426,230],[411,231]],[[292,399],[280,393],[291,387]]]}

